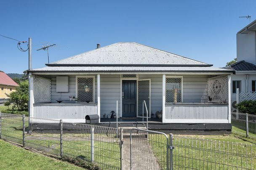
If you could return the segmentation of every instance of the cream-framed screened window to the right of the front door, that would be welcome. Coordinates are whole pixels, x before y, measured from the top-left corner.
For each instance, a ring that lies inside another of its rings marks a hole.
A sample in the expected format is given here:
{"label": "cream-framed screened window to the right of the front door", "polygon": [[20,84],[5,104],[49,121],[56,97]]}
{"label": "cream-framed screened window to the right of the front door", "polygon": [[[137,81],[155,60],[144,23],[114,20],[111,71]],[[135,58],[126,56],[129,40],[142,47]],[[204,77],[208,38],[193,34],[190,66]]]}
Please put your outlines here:
{"label": "cream-framed screened window to the right of the front door", "polygon": [[182,102],[182,78],[168,77],[166,78],[166,102],[177,103]]}

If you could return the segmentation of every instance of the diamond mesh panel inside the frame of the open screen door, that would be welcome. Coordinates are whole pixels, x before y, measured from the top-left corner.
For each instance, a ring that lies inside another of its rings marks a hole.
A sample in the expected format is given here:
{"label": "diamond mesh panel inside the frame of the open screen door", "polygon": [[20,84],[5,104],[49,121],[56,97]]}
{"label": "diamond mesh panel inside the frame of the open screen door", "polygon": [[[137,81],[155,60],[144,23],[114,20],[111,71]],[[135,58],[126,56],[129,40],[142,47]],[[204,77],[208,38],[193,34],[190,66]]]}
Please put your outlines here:
{"label": "diamond mesh panel inside the frame of the open screen door", "polygon": [[[143,101],[145,100],[148,110],[148,117],[150,117],[149,113],[149,97],[150,97],[150,89],[149,89],[149,80],[141,80],[138,81],[138,116],[143,116]],[[147,117],[147,110],[144,106],[144,117]]]}

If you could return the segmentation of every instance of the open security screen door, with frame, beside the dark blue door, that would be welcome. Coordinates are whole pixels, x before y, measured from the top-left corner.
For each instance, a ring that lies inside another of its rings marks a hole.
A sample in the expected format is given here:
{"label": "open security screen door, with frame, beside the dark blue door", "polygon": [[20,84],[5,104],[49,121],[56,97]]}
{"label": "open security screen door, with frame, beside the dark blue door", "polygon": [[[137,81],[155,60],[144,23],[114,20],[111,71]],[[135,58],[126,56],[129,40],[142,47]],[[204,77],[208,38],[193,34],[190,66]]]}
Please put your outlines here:
{"label": "open security screen door, with frame, beside the dark blue door", "polygon": [[[151,117],[151,81],[150,79],[137,80],[137,117],[147,117],[147,112],[143,113],[143,101],[145,100],[148,109],[148,118]],[[143,116],[144,114],[144,116]]]}

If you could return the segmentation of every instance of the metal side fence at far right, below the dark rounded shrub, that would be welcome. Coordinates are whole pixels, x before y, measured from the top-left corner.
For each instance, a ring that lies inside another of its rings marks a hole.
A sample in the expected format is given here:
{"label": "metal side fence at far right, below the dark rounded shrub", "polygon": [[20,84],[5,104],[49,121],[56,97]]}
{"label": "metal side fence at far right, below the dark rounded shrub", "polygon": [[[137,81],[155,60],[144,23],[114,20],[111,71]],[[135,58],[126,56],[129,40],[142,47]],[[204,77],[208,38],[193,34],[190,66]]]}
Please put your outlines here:
{"label": "metal side fence at far right, below the dark rounded shrub", "polygon": [[231,112],[232,132],[256,138],[256,115]]}

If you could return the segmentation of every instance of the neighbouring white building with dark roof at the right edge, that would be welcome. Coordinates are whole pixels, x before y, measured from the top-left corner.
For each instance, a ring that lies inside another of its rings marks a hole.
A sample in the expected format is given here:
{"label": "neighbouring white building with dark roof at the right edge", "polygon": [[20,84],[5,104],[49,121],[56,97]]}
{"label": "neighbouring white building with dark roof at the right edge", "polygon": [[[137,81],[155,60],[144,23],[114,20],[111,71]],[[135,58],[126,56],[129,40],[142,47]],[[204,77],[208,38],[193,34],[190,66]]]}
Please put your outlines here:
{"label": "neighbouring white building with dark roof at the right edge", "polygon": [[235,111],[237,88],[240,100],[256,99],[256,20],[237,32],[237,63],[226,68],[235,71],[231,76],[232,111]]}

